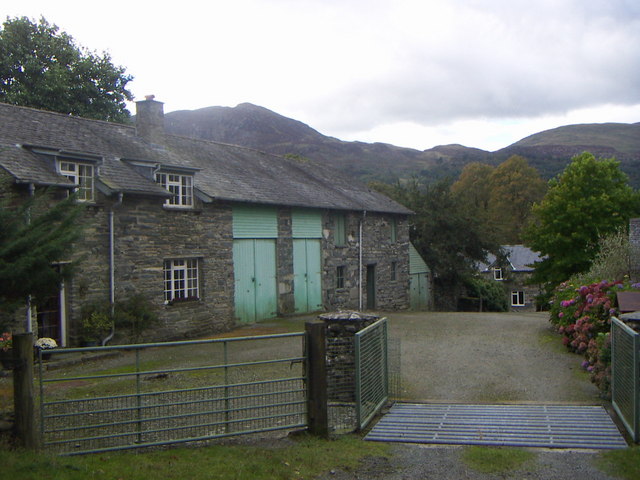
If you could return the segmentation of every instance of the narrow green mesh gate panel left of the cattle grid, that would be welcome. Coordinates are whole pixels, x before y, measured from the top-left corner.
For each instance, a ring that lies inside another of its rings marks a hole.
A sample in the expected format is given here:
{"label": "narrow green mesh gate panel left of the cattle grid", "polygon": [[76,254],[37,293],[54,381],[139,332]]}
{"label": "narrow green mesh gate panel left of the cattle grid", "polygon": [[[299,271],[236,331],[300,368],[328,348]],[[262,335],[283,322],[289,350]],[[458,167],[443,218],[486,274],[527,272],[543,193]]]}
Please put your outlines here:
{"label": "narrow green mesh gate panel left of the cattle grid", "polygon": [[389,400],[387,319],[382,318],[355,335],[356,421],[360,430]]}

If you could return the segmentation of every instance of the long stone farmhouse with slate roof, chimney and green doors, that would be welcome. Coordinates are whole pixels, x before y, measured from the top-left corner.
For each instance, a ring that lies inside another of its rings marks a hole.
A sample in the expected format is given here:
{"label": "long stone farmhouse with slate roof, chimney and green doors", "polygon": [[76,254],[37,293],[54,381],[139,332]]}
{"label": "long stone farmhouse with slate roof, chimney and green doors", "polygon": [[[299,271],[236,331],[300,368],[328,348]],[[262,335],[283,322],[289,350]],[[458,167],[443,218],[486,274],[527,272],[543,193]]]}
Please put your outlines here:
{"label": "long stone farmhouse with slate roof, chimney and green doors", "polygon": [[410,210],[311,161],[165,134],[152,96],[136,113],[122,125],[0,104],[0,194],[86,204],[60,259],[79,271],[27,309],[40,336],[78,344],[83,305],[140,294],[160,319],[147,340],[409,307]]}

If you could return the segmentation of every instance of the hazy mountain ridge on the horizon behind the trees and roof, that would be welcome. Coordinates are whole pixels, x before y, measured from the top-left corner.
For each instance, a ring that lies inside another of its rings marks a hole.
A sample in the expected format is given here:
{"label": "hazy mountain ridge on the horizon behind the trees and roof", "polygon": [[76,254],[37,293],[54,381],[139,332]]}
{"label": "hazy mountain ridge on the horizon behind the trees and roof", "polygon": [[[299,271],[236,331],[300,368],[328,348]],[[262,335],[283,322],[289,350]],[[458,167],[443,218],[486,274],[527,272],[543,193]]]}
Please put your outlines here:
{"label": "hazy mountain ridge on the horizon behind the trees and roof", "polygon": [[526,157],[543,177],[551,178],[573,155],[589,150],[597,156],[618,158],[633,183],[640,185],[640,123],[560,127],[496,152],[462,145],[420,151],[386,143],[345,142],[250,103],[170,112],[165,114],[165,128],[177,135],[310,158],[364,181],[395,182],[414,175],[430,180],[455,178],[470,162],[497,165],[514,154]]}

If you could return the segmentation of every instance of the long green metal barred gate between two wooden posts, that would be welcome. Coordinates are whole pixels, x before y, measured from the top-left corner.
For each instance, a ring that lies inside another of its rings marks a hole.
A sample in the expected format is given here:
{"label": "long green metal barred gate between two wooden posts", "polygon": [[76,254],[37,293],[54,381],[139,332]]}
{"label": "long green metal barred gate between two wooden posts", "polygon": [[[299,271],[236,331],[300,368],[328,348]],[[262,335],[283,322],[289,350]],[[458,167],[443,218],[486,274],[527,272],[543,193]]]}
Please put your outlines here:
{"label": "long green metal barred gate between two wooden posts", "polygon": [[72,455],[304,427],[303,337],[56,351],[86,363],[40,362],[42,444]]}

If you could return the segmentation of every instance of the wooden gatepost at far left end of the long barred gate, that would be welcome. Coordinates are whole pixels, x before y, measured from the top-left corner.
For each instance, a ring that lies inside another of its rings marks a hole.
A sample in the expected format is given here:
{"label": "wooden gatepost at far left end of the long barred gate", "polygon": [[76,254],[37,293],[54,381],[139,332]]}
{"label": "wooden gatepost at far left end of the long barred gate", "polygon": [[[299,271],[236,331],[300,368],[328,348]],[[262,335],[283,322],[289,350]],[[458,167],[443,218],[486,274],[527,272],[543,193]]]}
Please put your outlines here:
{"label": "wooden gatepost at far left end of the long barred gate", "polygon": [[25,448],[38,448],[35,405],[33,398],[33,333],[13,336],[13,408],[18,443]]}

